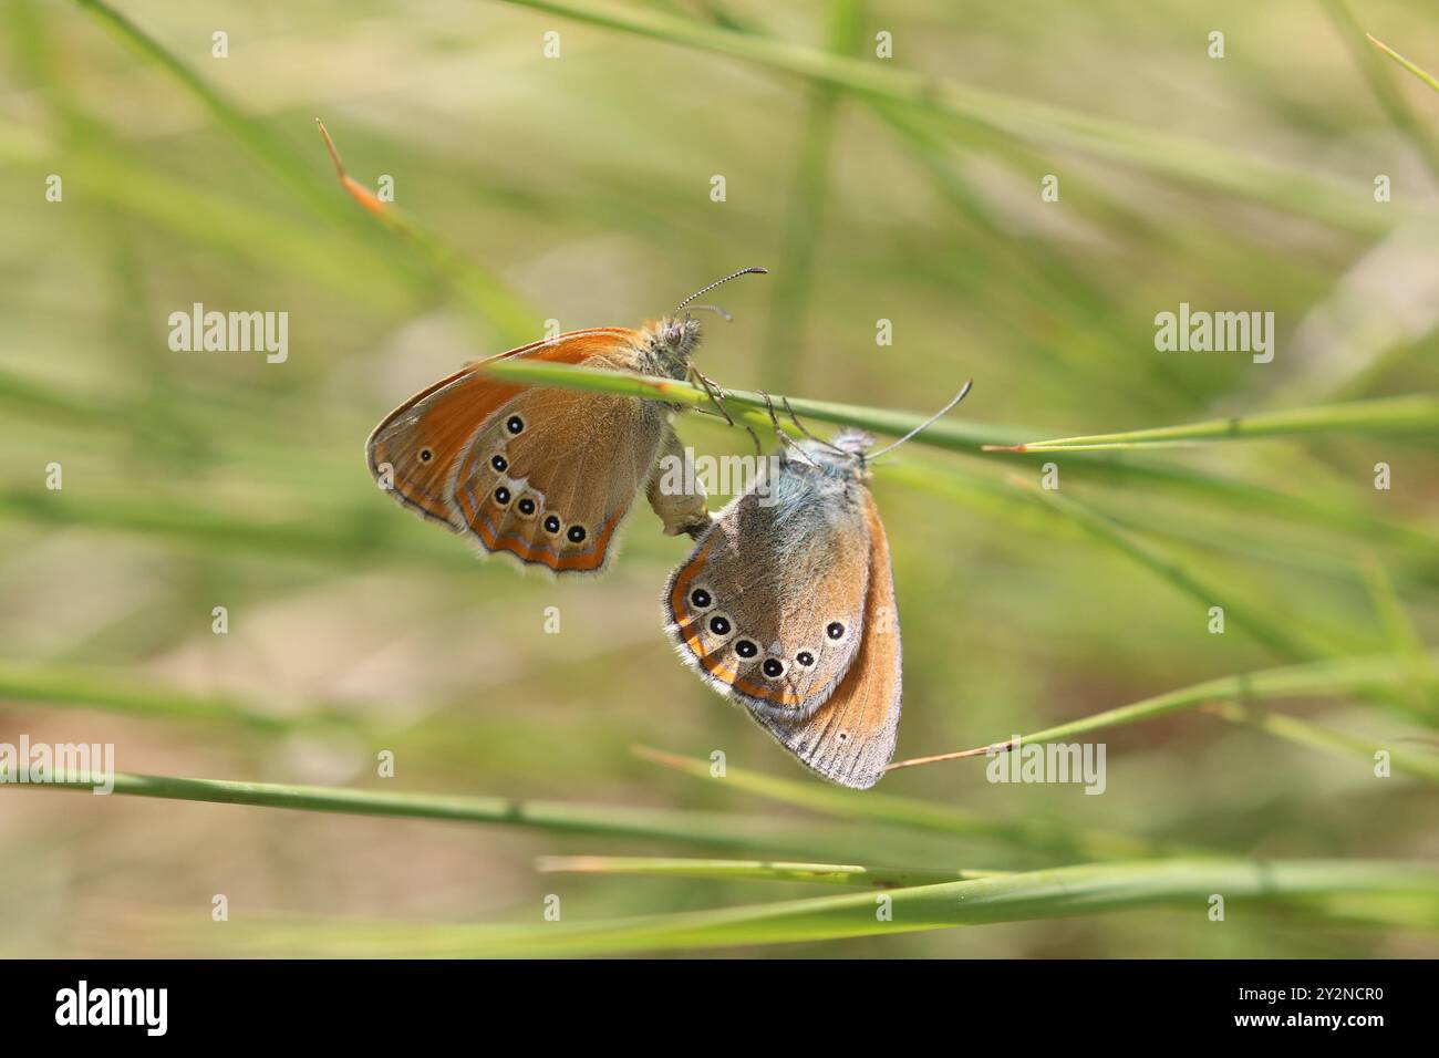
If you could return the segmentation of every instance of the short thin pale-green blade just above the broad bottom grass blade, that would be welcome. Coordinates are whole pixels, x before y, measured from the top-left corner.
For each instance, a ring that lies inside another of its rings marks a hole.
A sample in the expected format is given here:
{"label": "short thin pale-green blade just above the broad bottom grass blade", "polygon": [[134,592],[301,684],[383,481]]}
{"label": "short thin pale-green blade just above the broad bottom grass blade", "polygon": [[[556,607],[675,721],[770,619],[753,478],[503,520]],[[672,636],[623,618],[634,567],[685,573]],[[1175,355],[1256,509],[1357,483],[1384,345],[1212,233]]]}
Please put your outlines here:
{"label": "short thin pale-green blade just above the broad bottom grass blade", "polygon": [[617,874],[650,878],[709,878],[712,881],[786,881],[858,885],[872,890],[938,885],[983,878],[993,871],[930,871],[922,868],[856,867],[853,864],[787,864],[763,859],[691,859],[676,856],[541,856],[541,874]]}

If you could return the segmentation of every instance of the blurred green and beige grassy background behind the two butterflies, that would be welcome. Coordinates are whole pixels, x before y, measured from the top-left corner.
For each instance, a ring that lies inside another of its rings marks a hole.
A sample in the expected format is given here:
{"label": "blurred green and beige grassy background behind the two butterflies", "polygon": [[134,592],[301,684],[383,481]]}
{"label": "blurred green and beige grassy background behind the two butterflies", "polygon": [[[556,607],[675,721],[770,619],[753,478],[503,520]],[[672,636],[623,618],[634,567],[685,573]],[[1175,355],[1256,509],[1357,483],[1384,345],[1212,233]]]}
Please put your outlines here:
{"label": "blurred green and beige grassy background behind the two butterflies", "polygon": [[[861,864],[1035,865],[1013,844],[872,833],[636,757],[636,743],[722,750],[731,767],[819,786],[661,633],[658,596],[688,541],[639,510],[599,583],[475,561],[374,489],[368,430],[547,320],[637,325],[757,263],[771,275],[718,298],[734,322],[707,320],[707,373],[914,412],[973,377],[955,417],[996,439],[1439,389],[1439,95],[1363,42],[1439,66],[1432,4],[586,7],[699,26],[730,56],[489,0],[118,10],[157,50],[91,4],[10,0],[0,23],[0,740],[112,741],[138,773],[839,826]],[[227,58],[212,56],[217,30]],[[875,56],[882,32],[892,59]],[[908,98],[776,69],[771,39],[856,56]],[[393,177],[426,240],[345,197],[317,117],[360,183]],[[46,200],[50,174],[60,202]],[[1059,202],[1040,199],[1046,174]],[[167,318],[193,302],[286,311],[288,361],[171,351]],[[1274,363],[1157,353],[1154,315],[1180,302],[1275,312]],[[892,345],[876,344],[879,320]],[[679,429],[701,452],[750,451],[696,416]],[[1058,458],[1062,495],[1256,615],[1225,635],[1202,599],[1010,484],[1038,482],[1040,461],[911,446],[873,482],[904,629],[898,756],[1433,643],[1435,440]],[[1373,488],[1380,461],[1389,491]],[[212,632],[214,606],[227,635]],[[1435,701],[1406,702],[1276,710],[1432,757]],[[983,760],[899,772],[876,793],[1245,856],[1439,851],[1433,783],[1377,780],[1363,753],[1203,713],[1094,738],[1108,744],[1104,796],[990,785]],[[381,749],[393,780],[376,776]],[[545,894],[566,920],[597,920],[813,892],[532,868],[682,844],[53,790],[0,790],[0,841],[4,954],[216,953],[217,892],[232,924],[528,924]],[[157,917],[191,926],[153,933]],[[740,950],[1439,953],[1420,930],[1217,926],[1202,910]]]}

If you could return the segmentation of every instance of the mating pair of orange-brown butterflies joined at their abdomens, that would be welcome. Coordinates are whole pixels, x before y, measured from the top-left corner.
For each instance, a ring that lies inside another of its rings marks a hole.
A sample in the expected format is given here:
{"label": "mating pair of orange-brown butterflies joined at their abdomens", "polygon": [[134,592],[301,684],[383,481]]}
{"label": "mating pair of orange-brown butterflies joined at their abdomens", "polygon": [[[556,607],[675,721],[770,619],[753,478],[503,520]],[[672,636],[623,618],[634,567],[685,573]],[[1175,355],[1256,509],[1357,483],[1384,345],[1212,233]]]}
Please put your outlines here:
{"label": "mating pair of orange-brown butterflies joined at their abdomens", "polygon": [[370,471],[400,504],[484,553],[555,574],[602,571],[643,488],[666,533],[696,538],[663,599],[681,658],[806,766],[865,789],[894,754],[901,688],[889,546],[863,485],[871,439],[786,445],[777,481],[751,484],[711,517],[702,489],[659,488],[661,456],[679,452],[678,409],[484,370],[527,358],[711,389],[691,364],[699,322],[681,311],[717,285],[643,330],[571,331],[435,383],[370,435]]}

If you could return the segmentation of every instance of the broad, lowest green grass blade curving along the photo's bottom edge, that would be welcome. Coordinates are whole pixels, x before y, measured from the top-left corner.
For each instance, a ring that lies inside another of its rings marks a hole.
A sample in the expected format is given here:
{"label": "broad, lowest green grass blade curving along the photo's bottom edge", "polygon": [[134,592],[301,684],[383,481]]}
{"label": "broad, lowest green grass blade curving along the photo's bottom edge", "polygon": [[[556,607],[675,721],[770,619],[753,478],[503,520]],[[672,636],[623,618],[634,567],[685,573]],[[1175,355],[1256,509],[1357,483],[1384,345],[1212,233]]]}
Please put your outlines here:
{"label": "broad, lowest green grass blade curving along the photo's bottom edge", "polygon": [[[1322,918],[1350,898],[1345,917],[1439,928],[1439,869],[1343,859],[1170,859],[1084,864],[884,894],[856,892],[643,918],[541,926],[429,926],[360,921],[255,923],[226,930],[237,953],[302,956],[547,957],[794,944],[879,937],[958,926],[1170,908],[1204,923],[1212,898],[1226,914],[1271,907]],[[876,914],[888,903],[888,917]],[[173,943],[183,943],[173,941]],[[213,941],[212,941],[213,943]]]}

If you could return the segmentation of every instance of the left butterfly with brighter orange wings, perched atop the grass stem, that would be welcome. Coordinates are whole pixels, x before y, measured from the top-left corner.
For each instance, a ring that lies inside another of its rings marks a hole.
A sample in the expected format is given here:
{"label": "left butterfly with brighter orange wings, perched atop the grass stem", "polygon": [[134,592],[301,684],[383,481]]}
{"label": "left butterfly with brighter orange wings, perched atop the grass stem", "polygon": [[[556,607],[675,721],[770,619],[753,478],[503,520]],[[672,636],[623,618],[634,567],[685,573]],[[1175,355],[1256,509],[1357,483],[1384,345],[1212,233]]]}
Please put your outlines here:
{"label": "left butterfly with brighter orange wings, perched atop the grass stem", "polygon": [[366,442],[370,474],[399,504],[468,537],[482,554],[554,574],[602,571],[642,488],[666,533],[699,533],[709,524],[704,491],[666,494],[655,474],[661,456],[682,452],[673,406],[508,383],[485,366],[524,358],[696,379],[722,413],[722,393],[689,360],[699,321],[682,311],[720,284],[764,271],[745,268],[709,284],[640,330],[570,331],[463,367],[374,428]]}

